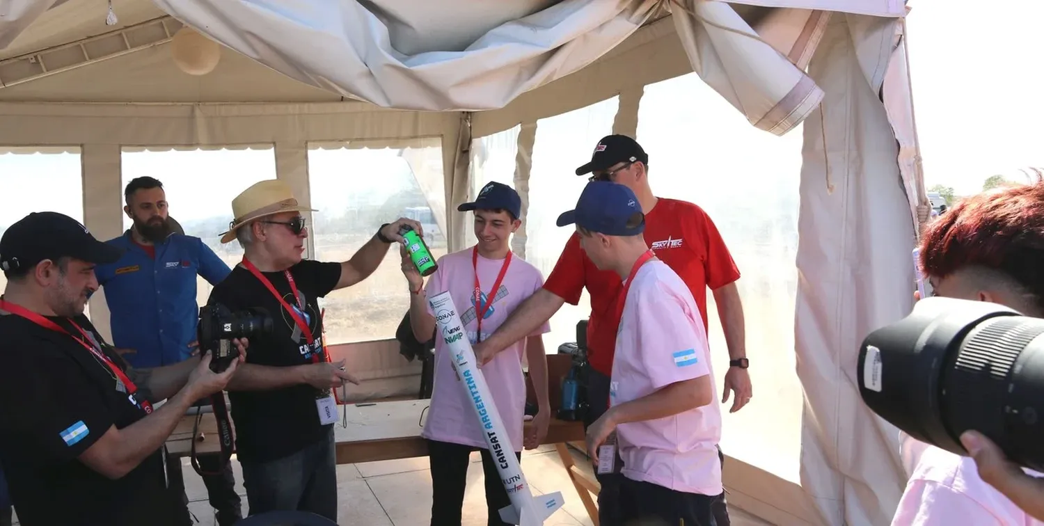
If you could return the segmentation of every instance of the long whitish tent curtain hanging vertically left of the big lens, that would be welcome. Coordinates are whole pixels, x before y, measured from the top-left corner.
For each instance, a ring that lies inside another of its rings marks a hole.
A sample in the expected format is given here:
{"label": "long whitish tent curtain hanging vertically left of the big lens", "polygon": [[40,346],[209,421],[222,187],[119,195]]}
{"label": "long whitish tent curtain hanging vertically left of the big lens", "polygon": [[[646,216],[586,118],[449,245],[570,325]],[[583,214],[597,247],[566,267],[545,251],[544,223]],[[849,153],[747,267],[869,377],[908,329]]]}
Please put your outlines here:
{"label": "long whitish tent curtain hanging vertically left of the big lens", "polygon": [[912,308],[914,221],[879,98],[896,24],[831,20],[809,74],[826,92],[805,122],[798,247],[802,486],[825,524],[888,524],[905,485],[897,429],[859,397],[862,338]]}

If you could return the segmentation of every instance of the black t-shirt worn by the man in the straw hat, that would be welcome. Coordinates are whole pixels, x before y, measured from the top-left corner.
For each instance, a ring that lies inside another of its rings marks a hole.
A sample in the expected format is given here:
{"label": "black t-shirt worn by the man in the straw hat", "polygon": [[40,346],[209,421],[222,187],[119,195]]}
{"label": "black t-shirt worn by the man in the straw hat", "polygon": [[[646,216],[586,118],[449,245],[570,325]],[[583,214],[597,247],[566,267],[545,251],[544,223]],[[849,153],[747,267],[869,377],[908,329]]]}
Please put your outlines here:
{"label": "black t-shirt worn by the man in the straw hat", "polygon": [[[293,308],[298,302],[282,272],[262,272],[283,300]],[[314,341],[307,338],[279,300],[242,265],[214,287],[209,305],[221,304],[233,312],[261,308],[272,317],[272,333],[252,338],[246,362],[288,367],[312,362],[323,352],[323,325],[318,298],[330,293],[340,280],[340,263],[304,260],[290,267],[293,283],[305,306],[305,320]],[[322,354],[319,358],[323,359]],[[308,384],[264,391],[229,391],[232,420],[236,425],[236,454],[248,461],[283,458],[324,438],[330,425],[319,424],[315,400],[319,391]]]}

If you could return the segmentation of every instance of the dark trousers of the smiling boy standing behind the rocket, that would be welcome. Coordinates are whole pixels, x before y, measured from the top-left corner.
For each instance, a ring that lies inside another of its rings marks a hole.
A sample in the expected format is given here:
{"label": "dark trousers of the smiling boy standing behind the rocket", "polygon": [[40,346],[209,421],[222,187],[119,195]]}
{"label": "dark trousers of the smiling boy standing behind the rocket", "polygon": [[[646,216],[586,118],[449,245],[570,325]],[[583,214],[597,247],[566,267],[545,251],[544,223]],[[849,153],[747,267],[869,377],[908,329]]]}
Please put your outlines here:
{"label": "dark trousers of the smiling boy standing behind the rocket", "polygon": [[[460,508],[468,484],[468,464],[472,451],[482,455],[485,475],[485,507],[490,513],[488,526],[507,526],[500,520],[500,508],[512,503],[500,481],[500,473],[488,449],[428,440],[428,461],[431,465],[431,526],[460,526]],[[521,461],[522,454],[516,453]]]}

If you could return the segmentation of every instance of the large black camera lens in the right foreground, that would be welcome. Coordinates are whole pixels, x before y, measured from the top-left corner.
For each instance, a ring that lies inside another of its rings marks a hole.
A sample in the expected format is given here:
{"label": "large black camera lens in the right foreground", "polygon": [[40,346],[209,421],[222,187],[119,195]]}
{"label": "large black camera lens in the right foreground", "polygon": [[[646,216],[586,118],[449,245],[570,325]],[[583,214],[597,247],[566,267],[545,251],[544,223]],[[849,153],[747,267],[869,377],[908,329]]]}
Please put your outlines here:
{"label": "large black camera lens in the right foreground", "polygon": [[911,437],[968,455],[975,430],[1044,471],[1044,319],[988,302],[926,297],[863,340],[863,402]]}

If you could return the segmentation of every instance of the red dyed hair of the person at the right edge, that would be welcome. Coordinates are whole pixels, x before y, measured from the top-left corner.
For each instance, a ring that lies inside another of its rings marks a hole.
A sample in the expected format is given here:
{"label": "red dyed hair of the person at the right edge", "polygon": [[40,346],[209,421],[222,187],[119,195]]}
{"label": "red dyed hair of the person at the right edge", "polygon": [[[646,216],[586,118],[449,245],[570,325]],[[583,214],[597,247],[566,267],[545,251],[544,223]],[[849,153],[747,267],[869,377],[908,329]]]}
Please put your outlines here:
{"label": "red dyed hair of the person at the right edge", "polygon": [[999,270],[1044,302],[1044,183],[969,197],[928,225],[924,273],[945,278],[970,266]]}

